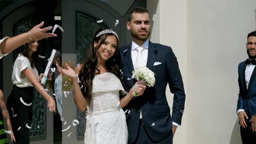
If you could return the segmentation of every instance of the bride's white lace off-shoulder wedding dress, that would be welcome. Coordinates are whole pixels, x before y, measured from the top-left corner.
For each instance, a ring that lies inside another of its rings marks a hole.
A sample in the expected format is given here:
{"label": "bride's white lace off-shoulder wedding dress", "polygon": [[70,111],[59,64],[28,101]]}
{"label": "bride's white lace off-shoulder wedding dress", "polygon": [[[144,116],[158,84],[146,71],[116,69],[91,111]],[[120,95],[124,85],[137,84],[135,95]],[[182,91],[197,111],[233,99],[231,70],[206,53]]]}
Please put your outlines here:
{"label": "bride's white lace off-shoulder wedding dress", "polygon": [[124,92],[124,88],[114,74],[95,75],[92,101],[87,107],[84,143],[127,144],[128,131],[125,113],[120,107],[120,91]]}

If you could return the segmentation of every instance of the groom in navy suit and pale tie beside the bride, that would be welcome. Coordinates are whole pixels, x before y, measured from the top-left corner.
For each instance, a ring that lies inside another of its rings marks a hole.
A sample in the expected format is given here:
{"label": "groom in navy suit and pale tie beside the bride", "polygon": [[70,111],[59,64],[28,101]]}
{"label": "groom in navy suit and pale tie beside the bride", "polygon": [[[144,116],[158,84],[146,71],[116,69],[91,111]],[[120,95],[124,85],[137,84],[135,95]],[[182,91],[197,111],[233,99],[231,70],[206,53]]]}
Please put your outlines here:
{"label": "groom in navy suit and pale tie beside the bride", "polygon": [[[132,71],[146,66],[155,73],[154,87],[148,87],[143,95],[133,98],[124,108],[129,131],[128,143],[172,143],[178,125],[181,125],[184,111],[185,92],[177,58],[171,47],[151,43],[148,10],[132,9],[127,29],[131,31],[132,42],[121,47],[125,85],[131,89],[136,80],[131,80]],[[139,50],[138,47],[142,47]],[[139,57],[138,57],[139,56]],[[138,60],[139,59],[139,60]],[[166,86],[174,93],[172,117],[166,100]]]}

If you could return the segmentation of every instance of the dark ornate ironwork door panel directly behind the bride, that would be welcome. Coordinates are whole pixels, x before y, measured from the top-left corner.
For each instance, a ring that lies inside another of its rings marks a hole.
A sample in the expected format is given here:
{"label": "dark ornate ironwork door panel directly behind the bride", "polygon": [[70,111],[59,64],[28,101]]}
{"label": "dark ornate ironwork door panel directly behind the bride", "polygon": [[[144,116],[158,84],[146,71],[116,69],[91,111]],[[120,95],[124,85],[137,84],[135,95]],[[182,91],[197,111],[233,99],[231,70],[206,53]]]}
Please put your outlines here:
{"label": "dark ornate ironwork door panel directly behind the bride", "polygon": [[[77,12],[77,59],[78,63],[83,63],[87,58],[88,47],[91,45],[91,41],[96,31],[104,26],[103,23],[97,23],[97,19]],[[85,112],[77,110],[77,119],[79,125],[77,126],[77,138],[84,139],[85,132]]]}

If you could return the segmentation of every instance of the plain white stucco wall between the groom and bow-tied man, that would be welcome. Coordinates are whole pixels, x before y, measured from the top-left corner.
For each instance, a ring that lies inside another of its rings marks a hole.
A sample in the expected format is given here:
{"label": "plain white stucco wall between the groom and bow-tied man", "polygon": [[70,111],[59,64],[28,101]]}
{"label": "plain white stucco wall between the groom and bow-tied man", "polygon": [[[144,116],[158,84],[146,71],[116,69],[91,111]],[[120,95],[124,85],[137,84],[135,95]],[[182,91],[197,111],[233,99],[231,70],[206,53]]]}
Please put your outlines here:
{"label": "plain white stucco wall between the groom and bow-tied man", "polygon": [[[237,65],[247,58],[256,1],[160,0],[151,41],[172,47],[187,94],[174,143],[242,143],[237,123]],[[151,10],[151,9],[149,9]],[[156,36],[154,36],[156,35]],[[159,35],[159,36],[158,36]],[[172,106],[172,94],[167,91]]]}

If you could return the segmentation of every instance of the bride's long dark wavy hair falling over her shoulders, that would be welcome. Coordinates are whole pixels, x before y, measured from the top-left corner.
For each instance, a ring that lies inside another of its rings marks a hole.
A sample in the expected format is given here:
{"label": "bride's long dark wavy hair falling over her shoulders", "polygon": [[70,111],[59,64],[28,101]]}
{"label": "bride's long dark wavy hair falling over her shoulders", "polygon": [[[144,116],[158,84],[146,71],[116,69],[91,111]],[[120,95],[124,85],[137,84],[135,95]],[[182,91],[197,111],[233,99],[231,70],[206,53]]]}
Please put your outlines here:
{"label": "bride's long dark wavy hair falling over her shoulders", "polygon": [[[88,105],[90,105],[91,103],[92,80],[94,79],[95,75],[100,74],[100,70],[96,67],[98,62],[98,57],[96,53],[98,49],[101,47],[101,45],[106,41],[109,35],[115,36],[115,38],[117,39],[117,47],[115,49],[114,55],[110,57],[105,63],[107,72],[116,75],[121,80],[121,83],[125,88],[124,81],[122,80],[123,74],[120,71],[120,53],[118,45],[119,40],[117,36],[113,33],[106,33],[96,38],[96,35],[104,29],[105,28],[98,29],[98,31],[94,35],[94,39],[92,40],[91,46],[88,50],[88,60],[84,63],[82,69],[79,72],[79,79],[82,85],[84,86],[81,90]],[[94,47],[94,41],[99,42],[99,44],[96,47]]]}

